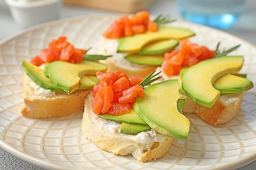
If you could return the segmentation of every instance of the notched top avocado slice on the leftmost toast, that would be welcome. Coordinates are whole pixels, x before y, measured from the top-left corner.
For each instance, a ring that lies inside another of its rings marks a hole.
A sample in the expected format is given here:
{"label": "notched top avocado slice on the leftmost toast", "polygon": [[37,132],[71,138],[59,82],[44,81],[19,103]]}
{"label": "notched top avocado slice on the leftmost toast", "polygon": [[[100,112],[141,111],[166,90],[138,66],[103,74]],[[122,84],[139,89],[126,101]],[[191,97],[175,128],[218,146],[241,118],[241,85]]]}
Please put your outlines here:
{"label": "notched top avocado slice on the leftmost toast", "polygon": [[65,61],[54,61],[45,66],[45,75],[66,93],[72,93],[79,89],[82,76],[95,75],[97,71],[105,72],[107,66],[95,61],[82,61],[81,63],[70,63]]}

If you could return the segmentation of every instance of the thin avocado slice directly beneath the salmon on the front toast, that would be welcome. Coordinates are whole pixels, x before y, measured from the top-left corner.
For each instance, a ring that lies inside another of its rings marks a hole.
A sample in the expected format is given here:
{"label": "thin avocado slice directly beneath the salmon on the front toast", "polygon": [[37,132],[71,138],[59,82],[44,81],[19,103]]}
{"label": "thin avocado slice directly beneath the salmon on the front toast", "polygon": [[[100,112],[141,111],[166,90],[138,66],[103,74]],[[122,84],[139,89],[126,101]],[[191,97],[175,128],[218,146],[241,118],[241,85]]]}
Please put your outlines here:
{"label": "thin avocado slice directly beneath the salmon on the front toast", "polygon": [[147,125],[144,120],[142,120],[134,109],[130,109],[129,112],[121,115],[111,115],[111,114],[99,114],[100,118],[104,118],[106,120],[114,120],[116,122],[125,122],[128,124],[143,124]]}

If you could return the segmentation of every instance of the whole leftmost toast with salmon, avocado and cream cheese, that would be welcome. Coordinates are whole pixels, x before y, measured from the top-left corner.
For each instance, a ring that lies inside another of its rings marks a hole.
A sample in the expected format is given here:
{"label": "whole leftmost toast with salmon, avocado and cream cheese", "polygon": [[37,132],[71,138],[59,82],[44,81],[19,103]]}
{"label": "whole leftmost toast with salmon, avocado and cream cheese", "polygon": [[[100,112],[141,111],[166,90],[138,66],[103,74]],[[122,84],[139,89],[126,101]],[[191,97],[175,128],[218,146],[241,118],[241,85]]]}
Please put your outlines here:
{"label": "whole leftmost toast with salmon, avocado and cream cheese", "polygon": [[[28,118],[51,118],[83,112],[84,100],[98,82],[97,71],[107,66],[58,37],[30,62],[23,61],[24,108]],[[89,60],[88,60],[89,58]]]}

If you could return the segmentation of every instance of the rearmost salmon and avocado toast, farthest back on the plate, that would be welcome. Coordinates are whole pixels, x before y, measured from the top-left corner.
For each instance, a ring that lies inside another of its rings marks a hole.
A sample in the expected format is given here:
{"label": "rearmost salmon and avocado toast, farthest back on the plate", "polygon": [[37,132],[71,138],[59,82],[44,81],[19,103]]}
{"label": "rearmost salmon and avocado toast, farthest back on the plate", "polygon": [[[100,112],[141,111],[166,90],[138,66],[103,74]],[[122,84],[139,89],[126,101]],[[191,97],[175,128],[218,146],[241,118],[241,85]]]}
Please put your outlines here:
{"label": "rearmost salmon and avocado toast, farthest back on the plate", "polygon": [[129,77],[145,78],[161,65],[164,52],[195,35],[190,29],[167,25],[173,21],[161,15],[150,20],[146,10],[117,18],[102,34],[96,53],[112,55],[102,60],[108,65],[107,71],[122,70]]}

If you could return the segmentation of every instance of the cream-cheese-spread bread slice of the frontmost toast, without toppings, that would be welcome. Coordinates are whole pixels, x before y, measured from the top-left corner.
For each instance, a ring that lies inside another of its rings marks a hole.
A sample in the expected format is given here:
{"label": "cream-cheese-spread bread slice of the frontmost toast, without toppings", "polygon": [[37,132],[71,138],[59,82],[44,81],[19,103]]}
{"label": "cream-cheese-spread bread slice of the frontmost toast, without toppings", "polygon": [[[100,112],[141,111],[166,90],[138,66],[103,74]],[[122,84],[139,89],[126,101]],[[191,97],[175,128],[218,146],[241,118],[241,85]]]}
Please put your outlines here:
{"label": "cream-cheese-spread bread slice of the frontmost toast, without toppings", "polygon": [[132,155],[138,161],[150,161],[161,158],[168,152],[173,138],[155,131],[141,132],[137,135],[119,133],[121,124],[112,120],[100,118],[91,108],[92,93],[85,99],[85,112],[81,129],[87,139],[102,150],[115,155]]}

